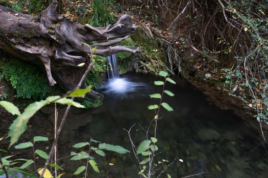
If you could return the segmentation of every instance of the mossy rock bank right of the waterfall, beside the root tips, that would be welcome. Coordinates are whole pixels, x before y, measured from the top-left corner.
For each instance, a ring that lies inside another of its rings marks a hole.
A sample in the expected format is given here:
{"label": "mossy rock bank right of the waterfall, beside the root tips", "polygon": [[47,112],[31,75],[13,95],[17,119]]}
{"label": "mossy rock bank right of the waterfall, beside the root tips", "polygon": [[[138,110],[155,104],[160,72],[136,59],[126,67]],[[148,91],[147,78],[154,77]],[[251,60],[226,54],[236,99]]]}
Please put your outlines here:
{"label": "mossy rock bank right of the waterfall, beside the root tips", "polygon": [[[137,28],[136,32],[120,45],[139,47],[135,54],[119,52],[117,54],[120,73],[128,71],[143,73],[158,73],[165,68],[165,51],[161,46],[161,39],[156,36],[148,36],[143,28]],[[126,60],[128,58],[128,60]]]}

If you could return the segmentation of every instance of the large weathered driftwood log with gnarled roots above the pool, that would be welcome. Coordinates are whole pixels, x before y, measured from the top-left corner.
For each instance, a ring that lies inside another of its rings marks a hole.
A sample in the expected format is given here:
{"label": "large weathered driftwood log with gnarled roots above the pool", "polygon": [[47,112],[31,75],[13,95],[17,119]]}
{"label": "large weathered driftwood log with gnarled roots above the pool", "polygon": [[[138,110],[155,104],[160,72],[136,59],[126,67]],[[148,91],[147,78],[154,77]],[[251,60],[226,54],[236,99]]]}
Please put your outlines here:
{"label": "large weathered driftwood log with gnarled roots above the pool", "polygon": [[[57,6],[58,2],[54,0],[38,16],[0,6],[0,48],[21,60],[44,67],[50,85],[58,83],[66,91],[74,90],[89,65],[88,53],[94,47],[93,54],[102,56],[138,50],[114,46],[135,31],[136,25],[130,16],[121,16],[114,25],[93,27],[58,16]],[[86,87],[85,82],[82,87]],[[94,91],[90,95],[93,98],[101,96]]]}

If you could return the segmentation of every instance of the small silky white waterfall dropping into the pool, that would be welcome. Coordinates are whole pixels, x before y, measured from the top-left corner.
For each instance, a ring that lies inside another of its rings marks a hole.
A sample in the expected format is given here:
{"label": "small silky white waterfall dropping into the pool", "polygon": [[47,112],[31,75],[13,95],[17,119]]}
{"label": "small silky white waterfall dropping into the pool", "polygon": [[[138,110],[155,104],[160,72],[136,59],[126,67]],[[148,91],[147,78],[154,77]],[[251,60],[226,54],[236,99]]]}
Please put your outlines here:
{"label": "small silky white waterfall dropping into the pool", "polygon": [[114,80],[119,78],[119,70],[118,70],[118,60],[117,55],[112,54],[107,56],[107,73],[108,73],[108,80]]}

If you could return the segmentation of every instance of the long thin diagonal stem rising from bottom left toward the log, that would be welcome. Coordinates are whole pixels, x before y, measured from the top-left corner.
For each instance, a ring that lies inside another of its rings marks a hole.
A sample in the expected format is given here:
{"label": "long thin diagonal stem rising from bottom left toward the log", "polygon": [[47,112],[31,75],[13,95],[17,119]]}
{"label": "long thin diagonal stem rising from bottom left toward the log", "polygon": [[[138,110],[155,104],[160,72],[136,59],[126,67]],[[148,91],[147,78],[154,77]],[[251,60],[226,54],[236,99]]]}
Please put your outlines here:
{"label": "long thin diagonal stem rising from bottom left toward the log", "polygon": [[[87,75],[88,72],[92,69],[92,67],[93,67],[92,59],[93,59],[93,53],[92,53],[92,50],[91,50],[90,58],[88,58],[88,62],[89,62],[88,64],[89,64],[89,65],[88,65],[88,67],[87,67],[85,73],[83,74],[82,78],[80,79],[80,82],[79,82],[79,84],[77,85],[76,89],[79,89],[79,88],[81,87],[83,81],[84,81],[85,78],[86,78],[86,75]],[[72,97],[72,98],[71,98],[71,100],[74,100],[74,99],[75,99],[75,97]],[[58,138],[59,138],[60,132],[61,132],[61,130],[62,130],[62,128],[63,128],[63,125],[64,125],[64,123],[65,123],[66,117],[67,117],[67,115],[68,115],[68,113],[69,113],[70,107],[71,107],[71,105],[68,105],[67,108],[66,108],[66,110],[65,110],[65,112],[64,112],[64,115],[63,115],[63,117],[62,117],[62,120],[61,120],[59,129],[58,129],[58,131],[57,131],[56,138],[54,139],[54,142],[53,142],[53,145],[52,145],[50,154],[48,155],[48,158],[47,158],[46,163],[45,163],[45,167],[44,167],[42,173],[40,174],[39,178],[42,178],[42,176],[43,176],[43,174],[44,174],[44,172],[45,172],[45,169],[47,168],[46,165],[51,161],[51,158],[52,158],[52,156],[53,156],[53,154],[54,154],[54,151],[55,151],[56,144],[57,144],[57,142],[58,142]]]}

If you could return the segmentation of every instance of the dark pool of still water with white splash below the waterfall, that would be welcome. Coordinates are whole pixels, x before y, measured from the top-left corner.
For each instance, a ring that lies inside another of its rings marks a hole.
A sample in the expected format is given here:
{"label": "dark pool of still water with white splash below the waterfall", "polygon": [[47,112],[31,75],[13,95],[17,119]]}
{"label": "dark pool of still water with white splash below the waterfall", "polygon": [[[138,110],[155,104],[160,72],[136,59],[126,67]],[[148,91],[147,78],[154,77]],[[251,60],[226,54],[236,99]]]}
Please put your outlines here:
{"label": "dark pool of still water with white splash below the waterfall", "polygon": [[[70,145],[90,138],[117,144],[131,150],[127,132],[137,123],[147,127],[154,117],[148,105],[156,104],[149,94],[159,93],[161,86],[154,80],[161,78],[149,74],[124,75],[118,83],[105,83],[100,92],[105,94],[103,106],[95,110],[72,108],[60,138],[61,156],[69,154]],[[114,89],[119,87],[120,91]],[[268,156],[258,131],[234,115],[207,101],[207,97],[185,80],[177,85],[167,85],[175,97],[164,97],[174,112],[163,109],[164,116],[158,122],[157,138],[161,154],[157,160],[176,161],[167,170],[172,177],[207,172],[196,177],[267,177]],[[117,92],[116,92],[117,91]],[[253,118],[254,119],[254,118]],[[145,139],[142,129],[136,125],[132,137],[138,145]],[[90,177],[139,177],[139,168],[133,153],[117,155],[108,153],[104,158],[93,155],[100,174],[90,170]],[[74,172],[81,163],[65,161],[65,168]],[[111,166],[109,163],[113,163]],[[166,174],[163,175],[166,177]]]}

